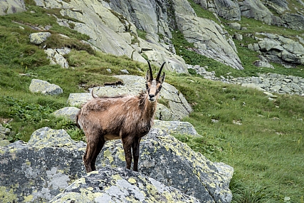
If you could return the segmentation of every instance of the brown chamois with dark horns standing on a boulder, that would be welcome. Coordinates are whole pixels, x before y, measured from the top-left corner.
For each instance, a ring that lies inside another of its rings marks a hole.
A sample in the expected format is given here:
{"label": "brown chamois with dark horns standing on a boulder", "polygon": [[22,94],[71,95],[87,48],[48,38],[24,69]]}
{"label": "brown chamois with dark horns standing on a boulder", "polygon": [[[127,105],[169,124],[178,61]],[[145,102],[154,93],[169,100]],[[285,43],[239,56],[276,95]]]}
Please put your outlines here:
{"label": "brown chamois with dark horns standing on a boulder", "polygon": [[[133,155],[133,170],[138,171],[140,140],[150,131],[157,109],[159,91],[164,83],[161,75],[164,63],[153,78],[150,62],[146,73],[146,90],[137,96],[93,98],[85,103],[76,116],[78,127],[83,129],[87,148],[83,155],[85,170],[95,170],[98,154],[108,140],[122,139],[127,169],[130,170]],[[131,153],[132,148],[132,153]]]}

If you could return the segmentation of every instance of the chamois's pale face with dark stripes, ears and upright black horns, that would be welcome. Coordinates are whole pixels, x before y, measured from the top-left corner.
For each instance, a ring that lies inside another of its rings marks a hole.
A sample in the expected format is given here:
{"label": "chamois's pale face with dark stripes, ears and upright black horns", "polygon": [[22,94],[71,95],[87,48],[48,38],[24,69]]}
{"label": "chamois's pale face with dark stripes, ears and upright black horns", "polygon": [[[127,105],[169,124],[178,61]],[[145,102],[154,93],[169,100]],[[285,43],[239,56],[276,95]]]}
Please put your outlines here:
{"label": "chamois's pale face with dark stripes, ears and upright black horns", "polygon": [[[162,89],[162,83],[164,83],[164,77],[166,76],[165,73],[162,73],[162,68],[164,67],[164,63],[162,63],[162,66],[159,69],[159,72],[157,74],[157,77],[153,79],[153,73],[152,68],[150,65],[150,61],[147,61],[149,64],[149,70],[146,74],[146,88],[147,88],[147,95],[148,100],[150,102],[154,102],[157,100],[159,91]],[[160,76],[160,73],[162,73],[162,76]]]}

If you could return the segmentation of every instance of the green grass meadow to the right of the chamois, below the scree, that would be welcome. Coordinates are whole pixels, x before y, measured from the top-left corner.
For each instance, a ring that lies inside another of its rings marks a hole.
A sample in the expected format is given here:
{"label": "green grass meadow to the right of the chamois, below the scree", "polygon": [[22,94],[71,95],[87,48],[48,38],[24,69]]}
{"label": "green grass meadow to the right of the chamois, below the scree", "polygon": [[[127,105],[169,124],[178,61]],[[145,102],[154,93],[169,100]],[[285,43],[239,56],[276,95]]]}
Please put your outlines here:
{"label": "green grass meadow to the right of the chamois, below the scree", "polygon": [[[284,197],[300,202],[304,194],[304,98],[278,95],[273,102],[257,90],[238,85],[193,76],[167,80],[195,103],[194,113],[184,121],[203,135],[177,138],[210,160],[234,167],[234,202],[283,202]],[[255,200],[249,201],[251,196]]]}

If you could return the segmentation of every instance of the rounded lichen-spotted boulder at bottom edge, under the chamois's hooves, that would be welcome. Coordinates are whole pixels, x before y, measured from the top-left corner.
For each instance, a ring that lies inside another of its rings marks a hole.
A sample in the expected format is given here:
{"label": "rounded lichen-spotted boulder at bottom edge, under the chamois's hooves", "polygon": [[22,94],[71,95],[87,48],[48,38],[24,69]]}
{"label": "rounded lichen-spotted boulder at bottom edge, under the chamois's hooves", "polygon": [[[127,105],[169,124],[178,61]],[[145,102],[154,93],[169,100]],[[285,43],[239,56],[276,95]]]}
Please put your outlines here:
{"label": "rounded lichen-spotted boulder at bottom edge, under the chamois's hooves", "polygon": [[122,168],[103,167],[77,179],[58,194],[59,202],[197,202],[198,199],[183,194],[174,187]]}

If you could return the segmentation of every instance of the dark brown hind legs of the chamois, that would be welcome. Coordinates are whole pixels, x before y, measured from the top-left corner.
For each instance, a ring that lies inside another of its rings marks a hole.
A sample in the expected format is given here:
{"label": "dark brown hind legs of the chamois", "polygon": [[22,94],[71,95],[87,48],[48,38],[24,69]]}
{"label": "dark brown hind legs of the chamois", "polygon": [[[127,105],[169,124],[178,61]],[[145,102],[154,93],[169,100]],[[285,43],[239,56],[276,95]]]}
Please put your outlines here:
{"label": "dark brown hind legs of the chamois", "polygon": [[91,136],[91,138],[88,136],[87,148],[85,150],[85,155],[83,156],[83,162],[85,164],[85,170],[87,172],[96,170],[96,158],[98,157],[101,149],[103,149],[103,145],[105,145],[103,136]]}

